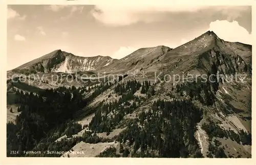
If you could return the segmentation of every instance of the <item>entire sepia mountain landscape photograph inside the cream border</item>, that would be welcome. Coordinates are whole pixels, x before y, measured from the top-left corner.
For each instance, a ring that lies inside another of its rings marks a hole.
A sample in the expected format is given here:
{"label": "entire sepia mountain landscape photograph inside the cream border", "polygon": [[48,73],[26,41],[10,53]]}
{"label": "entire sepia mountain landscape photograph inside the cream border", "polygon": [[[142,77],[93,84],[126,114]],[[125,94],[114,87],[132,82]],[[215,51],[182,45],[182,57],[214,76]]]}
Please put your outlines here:
{"label": "entire sepia mountain landscape photograph inside the cream border", "polygon": [[251,6],[7,5],[6,156],[252,158],[252,40]]}

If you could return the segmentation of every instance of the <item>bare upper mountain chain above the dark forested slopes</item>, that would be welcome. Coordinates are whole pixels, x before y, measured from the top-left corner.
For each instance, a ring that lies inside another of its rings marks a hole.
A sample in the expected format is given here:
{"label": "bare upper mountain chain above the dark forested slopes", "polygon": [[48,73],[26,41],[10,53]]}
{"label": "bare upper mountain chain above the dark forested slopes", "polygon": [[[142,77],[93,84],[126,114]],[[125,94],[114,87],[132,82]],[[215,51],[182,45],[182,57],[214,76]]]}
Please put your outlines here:
{"label": "bare upper mountain chain above the dark forested slopes", "polygon": [[[150,69],[152,66],[155,68],[160,65],[168,65],[170,61],[178,59],[179,57],[187,58],[190,55],[192,57],[196,55],[203,56],[204,53],[207,54],[207,51],[211,51],[211,53],[215,51],[220,52],[220,56],[217,55],[218,59],[215,61],[218,64],[221,60],[222,62],[223,60],[229,60],[229,58],[223,59],[221,54],[231,55],[230,60],[233,60],[231,62],[232,66],[229,66],[227,63],[222,63],[222,71],[226,69],[223,68],[224,66],[233,67],[232,69],[236,71],[236,61],[245,61],[247,64],[251,63],[251,45],[240,42],[227,42],[220,39],[214,32],[207,31],[194,40],[178,46],[175,49],[168,48],[164,45],[152,48],[141,48],[120,60],[112,59],[109,56],[79,57],[72,53],[56,50],[45,56],[25,63],[12,71],[30,74],[55,72],[76,73],[89,70],[109,73],[127,72],[136,69]],[[191,56],[189,58],[190,60],[193,59]],[[239,59],[239,57],[241,58]],[[206,56],[204,58],[206,58]],[[204,65],[202,59],[203,57],[201,58],[201,64]],[[251,68],[250,64],[249,67]]]}

